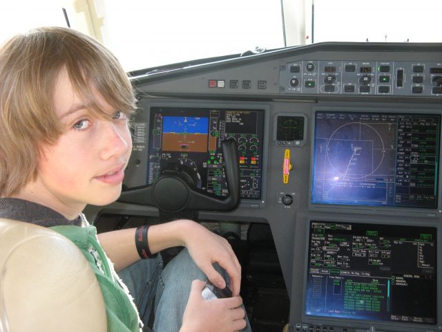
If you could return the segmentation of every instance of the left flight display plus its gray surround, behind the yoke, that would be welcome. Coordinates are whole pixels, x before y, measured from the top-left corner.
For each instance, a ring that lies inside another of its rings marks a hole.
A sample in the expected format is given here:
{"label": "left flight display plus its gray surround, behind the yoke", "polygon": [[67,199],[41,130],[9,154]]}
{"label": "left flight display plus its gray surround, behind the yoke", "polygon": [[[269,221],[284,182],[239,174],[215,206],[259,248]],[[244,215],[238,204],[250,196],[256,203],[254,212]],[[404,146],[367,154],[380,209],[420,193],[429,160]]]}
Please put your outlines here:
{"label": "left flight display plus its gray surround, behind the yoke", "polygon": [[[124,179],[126,188],[148,185],[164,169],[178,165],[189,181],[209,195],[229,194],[222,168],[222,140],[238,145],[240,199],[242,204],[265,202],[262,169],[267,106],[238,103],[146,102],[146,113],[138,113],[133,128],[133,153]],[[265,185],[264,185],[265,186]]]}

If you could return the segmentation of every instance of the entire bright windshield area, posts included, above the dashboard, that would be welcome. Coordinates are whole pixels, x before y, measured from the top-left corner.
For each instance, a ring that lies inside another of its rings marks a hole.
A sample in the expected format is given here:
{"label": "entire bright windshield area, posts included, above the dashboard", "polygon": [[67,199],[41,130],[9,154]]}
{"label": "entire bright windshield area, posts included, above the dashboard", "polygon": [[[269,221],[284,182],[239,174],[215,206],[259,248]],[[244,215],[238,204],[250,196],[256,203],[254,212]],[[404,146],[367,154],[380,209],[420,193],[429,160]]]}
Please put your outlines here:
{"label": "entire bright windshield area, posts included, above the dashboard", "polygon": [[440,0],[17,0],[0,5],[0,42],[69,24],[135,71],[318,42],[442,42],[440,12]]}

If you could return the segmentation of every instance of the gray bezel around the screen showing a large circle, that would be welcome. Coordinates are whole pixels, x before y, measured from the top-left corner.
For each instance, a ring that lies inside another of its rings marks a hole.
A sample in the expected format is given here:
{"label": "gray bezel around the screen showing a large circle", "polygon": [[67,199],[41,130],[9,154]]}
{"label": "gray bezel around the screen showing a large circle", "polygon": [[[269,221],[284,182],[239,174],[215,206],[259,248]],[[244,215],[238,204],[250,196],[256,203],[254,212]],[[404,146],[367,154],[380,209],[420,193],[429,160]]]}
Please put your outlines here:
{"label": "gray bezel around the screen showing a large circle", "polygon": [[383,107],[375,108],[375,107],[314,107],[311,112],[311,167],[310,167],[310,178],[309,178],[309,210],[317,210],[317,211],[331,211],[336,212],[337,209],[343,212],[356,212],[356,213],[364,213],[364,214],[394,214],[394,215],[425,215],[425,216],[438,216],[442,213],[442,134],[439,133],[439,165],[437,167],[438,176],[436,178],[436,186],[438,188],[438,197],[436,199],[436,208],[414,208],[414,207],[405,207],[405,206],[391,206],[391,205],[352,205],[352,204],[340,204],[340,203],[327,203],[327,202],[314,202],[312,201],[313,194],[313,181],[314,181],[314,163],[315,163],[315,128],[316,128],[316,113],[317,112],[332,112],[332,113],[374,113],[374,114],[425,114],[431,116],[439,116],[441,118],[441,122],[439,122],[442,127],[442,113],[439,109],[430,109],[430,108],[421,108],[421,107],[410,107],[410,108],[401,108],[391,107],[386,108]]}

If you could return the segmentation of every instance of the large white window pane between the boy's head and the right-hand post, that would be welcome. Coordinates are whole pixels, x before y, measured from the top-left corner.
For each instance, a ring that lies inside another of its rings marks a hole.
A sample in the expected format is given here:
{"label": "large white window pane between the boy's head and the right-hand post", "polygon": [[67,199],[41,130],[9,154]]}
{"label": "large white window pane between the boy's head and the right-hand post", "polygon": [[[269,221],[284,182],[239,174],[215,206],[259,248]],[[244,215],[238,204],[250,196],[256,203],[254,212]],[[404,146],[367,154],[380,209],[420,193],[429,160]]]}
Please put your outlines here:
{"label": "large white window pane between the boy's head and the right-hand post", "polygon": [[97,2],[104,44],[128,70],[284,46],[279,0]]}

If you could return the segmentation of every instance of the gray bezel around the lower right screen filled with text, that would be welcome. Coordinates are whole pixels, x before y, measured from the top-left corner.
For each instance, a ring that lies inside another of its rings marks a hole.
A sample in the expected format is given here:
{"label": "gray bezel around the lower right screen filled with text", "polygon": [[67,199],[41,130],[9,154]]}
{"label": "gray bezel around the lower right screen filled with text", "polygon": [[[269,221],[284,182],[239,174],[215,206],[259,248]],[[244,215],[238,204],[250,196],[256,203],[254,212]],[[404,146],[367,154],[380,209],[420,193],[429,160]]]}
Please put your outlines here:
{"label": "gray bezel around the lower right screen filled with text", "polygon": [[405,218],[401,221],[394,219],[377,218],[373,221],[373,216],[361,216],[355,219],[351,216],[309,216],[305,222],[305,232],[303,239],[305,239],[304,250],[305,250],[305,261],[302,266],[302,303],[300,306],[302,322],[306,324],[316,324],[325,326],[343,326],[347,328],[355,329],[365,329],[368,331],[371,326],[381,331],[401,331],[401,332],[416,332],[416,331],[436,331],[439,329],[442,323],[442,294],[440,290],[442,289],[442,264],[439,263],[438,259],[442,257],[442,228],[439,223],[435,222],[434,219],[421,219],[421,222],[417,226],[429,227],[436,229],[436,322],[434,324],[421,324],[413,322],[396,322],[396,321],[385,321],[385,320],[356,320],[353,318],[343,318],[343,317],[329,317],[325,315],[307,315],[307,286],[308,286],[308,275],[309,275],[309,244],[310,244],[310,230],[312,222],[325,222],[325,223],[356,223],[356,224],[385,224],[392,226],[416,226],[416,221],[414,218]]}

